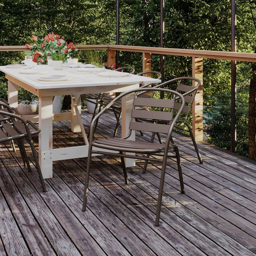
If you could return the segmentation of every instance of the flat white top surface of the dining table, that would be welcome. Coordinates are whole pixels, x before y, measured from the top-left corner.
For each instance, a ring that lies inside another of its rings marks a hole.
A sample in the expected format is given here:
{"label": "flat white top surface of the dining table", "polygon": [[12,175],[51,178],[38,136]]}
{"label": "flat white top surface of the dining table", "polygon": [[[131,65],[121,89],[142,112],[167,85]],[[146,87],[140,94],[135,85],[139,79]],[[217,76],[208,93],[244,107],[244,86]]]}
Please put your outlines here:
{"label": "flat white top surface of the dining table", "polygon": [[[134,85],[138,83],[159,83],[161,80],[143,77],[141,75],[130,75],[129,77],[99,77],[97,74],[90,73],[84,74],[78,72],[77,68],[63,68],[62,70],[54,70],[49,65],[38,65],[33,67],[32,70],[39,70],[40,72],[49,72],[48,74],[66,75],[70,78],[69,81],[39,81],[40,74],[21,74],[19,68],[8,68],[6,66],[0,66],[0,71],[7,75],[26,83],[34,89],[54,89],[54,88],[77,88],[77,87],[91,87],[91,86],[111,86],[111,85]],[[110,70],[107,70],[108,72]],[[117,71],[112,71],[117,72]]]}

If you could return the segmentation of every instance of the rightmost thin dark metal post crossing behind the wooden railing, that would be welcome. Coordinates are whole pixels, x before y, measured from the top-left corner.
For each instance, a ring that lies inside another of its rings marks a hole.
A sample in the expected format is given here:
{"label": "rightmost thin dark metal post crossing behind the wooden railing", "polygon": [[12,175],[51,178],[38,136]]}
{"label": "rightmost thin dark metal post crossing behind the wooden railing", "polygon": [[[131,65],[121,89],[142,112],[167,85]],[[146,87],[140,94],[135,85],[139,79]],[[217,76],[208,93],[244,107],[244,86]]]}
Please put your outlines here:
{"label": "rightmost thin dark metal post crossing behind the wooden railing", "polygon": [[[237,25],[236,0],[231,1],[231,51],[237,50],[235,27]],[[231,152],[237,151],[237,63],[231,61]]]}

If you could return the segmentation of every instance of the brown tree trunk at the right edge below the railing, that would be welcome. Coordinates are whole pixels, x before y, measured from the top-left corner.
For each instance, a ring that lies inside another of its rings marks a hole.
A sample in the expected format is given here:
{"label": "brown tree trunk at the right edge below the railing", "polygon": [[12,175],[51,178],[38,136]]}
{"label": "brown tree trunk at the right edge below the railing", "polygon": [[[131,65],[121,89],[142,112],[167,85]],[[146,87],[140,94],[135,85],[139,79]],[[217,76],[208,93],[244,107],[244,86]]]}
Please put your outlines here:
{"label": "brown tree trunk at the right edge below the railing", "polygon": [[249,158],[256,160],[256,63],[251,64],[251,80],[249,91]]}

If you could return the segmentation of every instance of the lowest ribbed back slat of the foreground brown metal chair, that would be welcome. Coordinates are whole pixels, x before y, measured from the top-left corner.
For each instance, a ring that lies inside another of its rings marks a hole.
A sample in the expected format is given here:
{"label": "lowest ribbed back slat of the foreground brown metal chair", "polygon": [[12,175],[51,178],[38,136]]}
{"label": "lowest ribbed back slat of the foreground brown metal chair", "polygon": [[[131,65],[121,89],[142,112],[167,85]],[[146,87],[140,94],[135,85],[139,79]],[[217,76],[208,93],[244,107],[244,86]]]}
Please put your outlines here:
{"label": "lowest ribbed back slat of the foreground brown metal chair", "polygon": [[159,123],[142,123],[142,122],[130,122],[130,130],[139,130],[139,131],[152,131],[159,133],[168,133],[170,125],[162,125]]}

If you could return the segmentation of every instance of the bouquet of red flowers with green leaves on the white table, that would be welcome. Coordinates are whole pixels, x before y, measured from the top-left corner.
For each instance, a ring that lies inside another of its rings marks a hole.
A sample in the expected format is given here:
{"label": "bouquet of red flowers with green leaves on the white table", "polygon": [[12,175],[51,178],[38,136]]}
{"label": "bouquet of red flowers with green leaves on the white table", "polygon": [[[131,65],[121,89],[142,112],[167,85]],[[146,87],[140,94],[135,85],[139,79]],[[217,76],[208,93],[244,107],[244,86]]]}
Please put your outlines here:
{"label": "bouquet of red flowers with green leaves on the white table", "polygon": [[49,33],[45,37],[38,38],[32,35],[33,45],[25,44],[26,48],[31,51],[33,56],[33,62],[38,64],[45,64],[47,62],[47,56],[51,54],[59,53],[64,56],[64,60],[73,57],[74,52],[77,50],[75,45],[64,40],[58,34]]}

